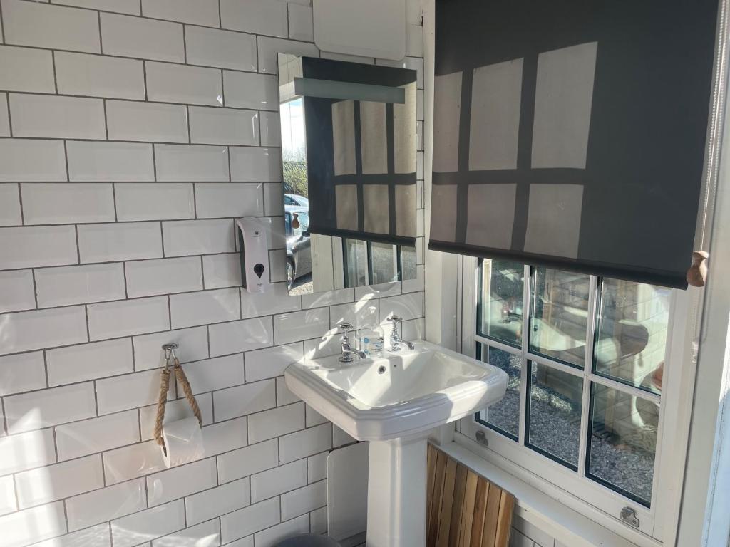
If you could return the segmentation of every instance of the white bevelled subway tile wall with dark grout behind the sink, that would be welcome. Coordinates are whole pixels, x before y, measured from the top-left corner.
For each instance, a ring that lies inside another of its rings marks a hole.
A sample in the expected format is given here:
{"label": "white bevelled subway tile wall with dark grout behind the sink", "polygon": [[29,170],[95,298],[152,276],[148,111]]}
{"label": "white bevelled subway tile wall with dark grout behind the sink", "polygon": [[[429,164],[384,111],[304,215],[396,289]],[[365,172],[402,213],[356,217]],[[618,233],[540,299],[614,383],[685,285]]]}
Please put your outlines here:
{"label": "white bevelled subway tile wall with dark grout behind the sink", "polygon": [[[396,64],[423,88],[419,19]],[[339,351],[342,319],[423,333],[423,283],[290,297],[276,241],[273,290],[240,287],[234,218],[283,214],[276,54],[320,55],[311,1],[0,0],[0,23],[0,544],[325,532],[326,456],[351,439],[284,369]],[[172,341],[206,453],[166,470]]]}

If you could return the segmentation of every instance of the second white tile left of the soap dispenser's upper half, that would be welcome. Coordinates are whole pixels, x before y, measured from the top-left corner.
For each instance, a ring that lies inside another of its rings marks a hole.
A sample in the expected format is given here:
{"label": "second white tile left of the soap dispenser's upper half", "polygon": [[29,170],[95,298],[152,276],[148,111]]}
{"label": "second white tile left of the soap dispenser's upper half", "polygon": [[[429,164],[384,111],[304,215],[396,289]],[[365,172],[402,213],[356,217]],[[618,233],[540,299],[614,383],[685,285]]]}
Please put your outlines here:
{"label": "second white tile left of the soap dispenser's upper half", "polygon": [[159,222],[79,226],[78,233],[82,263],[162,256]]}

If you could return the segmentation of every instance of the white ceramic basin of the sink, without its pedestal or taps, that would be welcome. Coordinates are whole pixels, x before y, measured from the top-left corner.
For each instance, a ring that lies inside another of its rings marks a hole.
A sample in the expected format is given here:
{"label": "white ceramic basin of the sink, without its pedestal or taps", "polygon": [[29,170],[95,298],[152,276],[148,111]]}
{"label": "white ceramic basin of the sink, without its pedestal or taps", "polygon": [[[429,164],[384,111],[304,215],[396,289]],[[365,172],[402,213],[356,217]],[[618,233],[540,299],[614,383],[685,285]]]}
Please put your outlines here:
{"label": "white ceramic basin of the sink, without its pedestal or taps", "polygon": [[409,438],[504,396],[499,368],[425,341],[385,357],[290,365],[289,389],[358,441]]}

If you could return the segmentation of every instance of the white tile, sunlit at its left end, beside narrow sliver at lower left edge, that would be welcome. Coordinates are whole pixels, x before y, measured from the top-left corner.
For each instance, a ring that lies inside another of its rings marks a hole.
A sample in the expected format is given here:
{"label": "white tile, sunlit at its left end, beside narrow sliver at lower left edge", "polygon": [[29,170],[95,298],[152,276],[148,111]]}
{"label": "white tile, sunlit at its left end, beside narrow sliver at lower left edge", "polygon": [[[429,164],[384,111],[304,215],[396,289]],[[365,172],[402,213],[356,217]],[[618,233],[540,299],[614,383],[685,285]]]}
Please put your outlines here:
{"label": "white tile, sunlit at its left end, beside narrow sliver at lower left edge", "polygon": [[104,486],[101,454],[18,473],[15,485],[21,509],[96,490]]}

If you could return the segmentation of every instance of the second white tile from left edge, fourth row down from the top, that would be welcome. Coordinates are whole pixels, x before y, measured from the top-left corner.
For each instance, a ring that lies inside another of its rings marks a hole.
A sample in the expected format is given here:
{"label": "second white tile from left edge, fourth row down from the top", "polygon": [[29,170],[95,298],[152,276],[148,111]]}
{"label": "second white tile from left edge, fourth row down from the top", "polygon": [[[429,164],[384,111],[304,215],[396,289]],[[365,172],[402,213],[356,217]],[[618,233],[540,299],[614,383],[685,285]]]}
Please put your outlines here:
{"label": "second white tile from left edge, fourth row down from the top", "polygon": [[76,182],[142,182],[155,179],[152,145],[67,141],[69,179]]}

